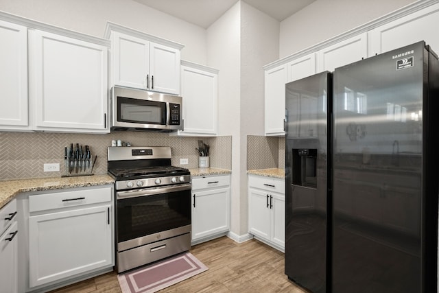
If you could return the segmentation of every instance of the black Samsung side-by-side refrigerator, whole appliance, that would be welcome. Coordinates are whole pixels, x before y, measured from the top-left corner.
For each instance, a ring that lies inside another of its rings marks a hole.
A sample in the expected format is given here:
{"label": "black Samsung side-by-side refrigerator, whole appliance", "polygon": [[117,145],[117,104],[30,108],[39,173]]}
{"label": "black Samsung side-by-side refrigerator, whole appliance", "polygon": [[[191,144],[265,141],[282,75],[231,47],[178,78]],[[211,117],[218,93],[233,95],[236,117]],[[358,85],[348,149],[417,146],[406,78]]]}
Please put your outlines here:
{"label": "black Samsung side-by-side refrigerator, whole appliance", "polygon": [[436,54],[415,43],[302,91],[318,76],[286,86],[285,274],[311,292],[436,292]]}

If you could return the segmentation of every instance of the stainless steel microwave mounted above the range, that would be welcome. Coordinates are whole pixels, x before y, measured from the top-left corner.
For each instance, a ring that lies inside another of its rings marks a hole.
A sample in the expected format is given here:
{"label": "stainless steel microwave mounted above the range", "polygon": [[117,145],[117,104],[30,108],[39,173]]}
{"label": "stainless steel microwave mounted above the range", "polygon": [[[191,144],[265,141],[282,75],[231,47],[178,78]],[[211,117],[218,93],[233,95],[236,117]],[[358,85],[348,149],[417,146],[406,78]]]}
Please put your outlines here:
{"label": "stainless steel microwave mounted above the range", "polygon": [[109,112],[111,130],[182,129],[182,98],[176,95],[113,86]]}

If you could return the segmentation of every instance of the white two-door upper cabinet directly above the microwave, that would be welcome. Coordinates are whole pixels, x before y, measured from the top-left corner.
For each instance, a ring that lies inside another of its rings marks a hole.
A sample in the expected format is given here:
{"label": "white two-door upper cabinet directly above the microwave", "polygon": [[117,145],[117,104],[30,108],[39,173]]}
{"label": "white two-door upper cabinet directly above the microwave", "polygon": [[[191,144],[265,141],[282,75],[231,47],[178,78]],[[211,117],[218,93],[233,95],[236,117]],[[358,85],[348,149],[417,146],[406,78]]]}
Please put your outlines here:
{"label": "white two-door upper cabinet directly above the microwave", "polygon": [[180,94],[183,45],[109,22],[106,38],[112,48],[111,86]]}

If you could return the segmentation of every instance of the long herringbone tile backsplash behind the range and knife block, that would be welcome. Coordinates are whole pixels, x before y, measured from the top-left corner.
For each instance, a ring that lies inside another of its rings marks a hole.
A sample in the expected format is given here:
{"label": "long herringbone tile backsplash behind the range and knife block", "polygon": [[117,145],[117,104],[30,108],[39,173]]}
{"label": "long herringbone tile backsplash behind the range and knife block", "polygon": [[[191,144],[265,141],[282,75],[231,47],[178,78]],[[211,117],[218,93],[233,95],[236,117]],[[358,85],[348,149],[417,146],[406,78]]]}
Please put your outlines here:
{"label": "long herringbone tile backsplash behind the range and knife block", "polygon": [[[0,180],[15,178],[57,177],[64,174],[64,147],[70,143],[89,145],[97,155],[94,174],[107,172],[107,147],[112,139],[130,142],[132,146],[170,146],[171,164],[180,166],[180,159],[198,167],[198,140],[211,146],[211,167],[231,169],[232,137],[172,137],[167,133],[112,132],[110,134],[73,134],[51,132],[0,132]],[[60,163],[60,172],[43,172],[44,163]]]}

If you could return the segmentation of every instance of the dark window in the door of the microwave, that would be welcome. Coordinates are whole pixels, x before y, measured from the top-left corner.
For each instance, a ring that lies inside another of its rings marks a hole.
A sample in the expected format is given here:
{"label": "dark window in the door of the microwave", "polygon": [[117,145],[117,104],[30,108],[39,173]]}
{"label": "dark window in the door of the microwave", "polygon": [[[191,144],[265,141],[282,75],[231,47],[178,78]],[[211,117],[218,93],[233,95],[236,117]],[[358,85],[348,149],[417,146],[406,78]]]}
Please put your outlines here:
{"label": "dark window in the door of the microwave", "polygon": [[118,97],[117,104],[118,121],[139,124],[166,124],[165,102]]}

